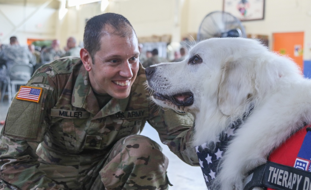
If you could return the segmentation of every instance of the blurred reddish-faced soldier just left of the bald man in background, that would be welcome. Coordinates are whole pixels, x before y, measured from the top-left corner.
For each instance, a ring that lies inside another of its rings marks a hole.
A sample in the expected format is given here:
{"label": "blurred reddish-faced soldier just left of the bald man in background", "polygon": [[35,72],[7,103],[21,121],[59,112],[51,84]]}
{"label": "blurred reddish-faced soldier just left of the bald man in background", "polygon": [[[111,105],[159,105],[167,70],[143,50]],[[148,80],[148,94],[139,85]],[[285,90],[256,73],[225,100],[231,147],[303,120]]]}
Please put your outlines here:
{"label": "blurred reddish-faced soldier just left of the bald man in background", "polygon": [[59,40],[55,39],[52,41],[50,47],[46,47],[41,51],[42,64],[47,64],[57,60],[65,54],[65,51],[59,48],[59,43]]}

